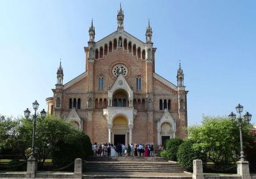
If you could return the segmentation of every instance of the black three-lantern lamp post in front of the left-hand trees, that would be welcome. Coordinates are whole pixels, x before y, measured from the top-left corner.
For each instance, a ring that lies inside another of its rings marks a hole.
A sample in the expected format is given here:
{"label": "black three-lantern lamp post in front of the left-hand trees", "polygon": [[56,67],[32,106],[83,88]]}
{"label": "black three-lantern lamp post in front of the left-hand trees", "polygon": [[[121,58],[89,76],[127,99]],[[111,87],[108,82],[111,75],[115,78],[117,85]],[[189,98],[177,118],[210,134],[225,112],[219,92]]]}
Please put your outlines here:
{"label": "black three-lantern lamp post in front of the left-hand trees", "polygon": [[[31,151],[31,156],[35,157],[35,136],[36,136],[36,110],[38,109],[38,102],[35,100],[35,102],[33,102],[33,109],[35,110],[35,114],[33,115],[33,138],[32,138],[32,151]],[[44,109],[40,112],[41,113],[41,117],[44,119],[46,116],[46,112],[44,111]],[[29,118],[30,116],[30,111],[28,110],[28,108],[24,111],[24,116],[26,119]]]}

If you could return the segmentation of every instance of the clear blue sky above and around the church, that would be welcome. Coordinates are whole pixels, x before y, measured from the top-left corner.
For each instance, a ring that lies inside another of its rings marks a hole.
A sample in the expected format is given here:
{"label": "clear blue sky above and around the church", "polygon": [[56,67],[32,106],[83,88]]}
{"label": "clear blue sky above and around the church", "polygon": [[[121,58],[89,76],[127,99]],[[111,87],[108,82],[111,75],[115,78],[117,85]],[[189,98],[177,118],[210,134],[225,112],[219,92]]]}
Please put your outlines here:
{"label": "clear blue sky above and around the church", "polygon": [[[0,114],[24,115],[52,97],[59,58],[64,82],[85,70],[83,47],[116,30],[120,1],[0,1]],[[256,123],[256,1],[121,1],[124,29],[145,42],[150,19],[156,72],[176,84],[179,60],[188,123],[223,116],[238,103]]]}

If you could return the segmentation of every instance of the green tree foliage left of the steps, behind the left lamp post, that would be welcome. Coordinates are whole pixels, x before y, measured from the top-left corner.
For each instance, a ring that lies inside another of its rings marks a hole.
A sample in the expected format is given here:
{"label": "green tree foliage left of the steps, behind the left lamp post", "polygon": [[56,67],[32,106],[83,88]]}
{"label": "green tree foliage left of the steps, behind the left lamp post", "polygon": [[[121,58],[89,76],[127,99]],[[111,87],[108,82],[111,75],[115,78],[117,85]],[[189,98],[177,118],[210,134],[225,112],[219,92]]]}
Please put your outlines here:
{"label": "green tree foliage left of the steps, behind the left lamp post", "polygon": [[[0,140],[0,146],[2,148],[12,148],[15,153],[19,153],[26,160],[31,152],[32,132],[33,121],[31,119],[18,118],[1,121],[0,136],[3,140]],[[84,139],[84,141],[81,141],[81,139]],[[82,131],[77,130],[72,123],[57,116],[47,115],[44,120],[38,118],[36,122],[36,155],[38,157],[38,167],[44,164],[45,159],[49,159],[52,152],[56,151],[60,141],[67,144],[73,143],[70,148],[77,153],[82,153],[83,155],[81,156],[83,158],[87,154],[90,155],[90,150],[92,150],[90,138]],[[76,141],[79,141],[81,145],[74,145]],[[88,146],[90,146],[90,150]],[[68,158],[70,157],[69,154],[63,157]]]}

